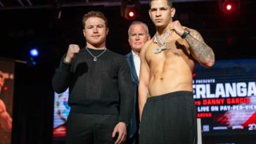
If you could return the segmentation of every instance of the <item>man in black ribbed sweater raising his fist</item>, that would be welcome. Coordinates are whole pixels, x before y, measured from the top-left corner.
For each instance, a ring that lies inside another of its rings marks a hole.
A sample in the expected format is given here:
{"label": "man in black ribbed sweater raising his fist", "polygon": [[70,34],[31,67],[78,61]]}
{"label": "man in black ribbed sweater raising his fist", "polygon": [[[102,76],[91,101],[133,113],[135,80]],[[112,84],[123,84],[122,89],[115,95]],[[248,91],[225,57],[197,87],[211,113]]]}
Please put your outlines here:
{"label": "man in black ribbed sweater raising his fist", "polygon": [[105,47],[108,20],[91,11],[82,18],[87,46],[70,44],[53,77],[53,89],[70,89],[67,143],[124,143],[134,103],[129,65]]}

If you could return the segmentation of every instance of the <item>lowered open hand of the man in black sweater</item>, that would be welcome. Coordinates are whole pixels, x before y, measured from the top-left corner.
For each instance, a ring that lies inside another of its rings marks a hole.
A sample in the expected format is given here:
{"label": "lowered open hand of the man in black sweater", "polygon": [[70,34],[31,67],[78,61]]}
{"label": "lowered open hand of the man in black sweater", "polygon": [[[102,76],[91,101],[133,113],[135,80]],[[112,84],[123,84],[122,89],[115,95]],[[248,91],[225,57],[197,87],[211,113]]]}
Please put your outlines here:
{"label": "lowered open hand of the man in black sweater", "polygon": [[112,138],[118,133],[117,140],[115,140],[115,144],[124,143],[127,137],[127,127],[124,122],[119,122],[112,133]]}

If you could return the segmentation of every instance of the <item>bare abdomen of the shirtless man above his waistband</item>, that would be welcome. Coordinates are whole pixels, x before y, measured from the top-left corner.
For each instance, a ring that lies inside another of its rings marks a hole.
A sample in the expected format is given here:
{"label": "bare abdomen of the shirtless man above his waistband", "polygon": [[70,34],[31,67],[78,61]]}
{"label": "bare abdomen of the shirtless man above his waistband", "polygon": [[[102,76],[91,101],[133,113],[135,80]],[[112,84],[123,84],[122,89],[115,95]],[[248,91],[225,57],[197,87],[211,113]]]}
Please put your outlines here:
{"label": "bare abdomen of the shirtless man above his waistband", "polygon": [[150,96],[160,96],[174,91],[193,91],[191,67],[182,59],[172,58],[163,63],[151,63],[148,83]]}

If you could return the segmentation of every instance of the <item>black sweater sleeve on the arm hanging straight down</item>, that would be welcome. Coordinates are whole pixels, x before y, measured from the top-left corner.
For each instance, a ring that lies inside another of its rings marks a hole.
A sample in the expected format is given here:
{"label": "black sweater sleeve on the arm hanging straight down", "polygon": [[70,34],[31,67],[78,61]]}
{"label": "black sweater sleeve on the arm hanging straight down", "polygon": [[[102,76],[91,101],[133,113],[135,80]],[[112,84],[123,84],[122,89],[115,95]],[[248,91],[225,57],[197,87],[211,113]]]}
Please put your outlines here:
{"label": "black sweater sleeve on the arm hanging straight down", "polygon": [[120,91],[120,119],[119,122],[129,124],[132,115],[134,96],[132,93],[132,78],[127,60],[122,59],[122,65],[118,73],[118,87]]}

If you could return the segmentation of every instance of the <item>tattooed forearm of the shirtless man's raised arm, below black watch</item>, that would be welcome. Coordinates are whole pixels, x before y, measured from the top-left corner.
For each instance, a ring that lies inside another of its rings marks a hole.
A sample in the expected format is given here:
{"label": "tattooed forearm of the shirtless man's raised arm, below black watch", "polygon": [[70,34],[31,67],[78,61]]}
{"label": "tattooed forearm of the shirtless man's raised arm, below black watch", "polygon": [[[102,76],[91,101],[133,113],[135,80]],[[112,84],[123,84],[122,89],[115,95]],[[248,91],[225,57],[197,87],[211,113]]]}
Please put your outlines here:
{"label": "tattooed forearm of the shirtless man's raised arm, below black watch", "polygon": [[212,48],[205,44],[198,32],[195,32],[194,30],[191,31],[191,34],[188,34],[185,39],[191,47],[193,56],[199,63],[204,64],[215,60],[215,54],[213,53]]}

